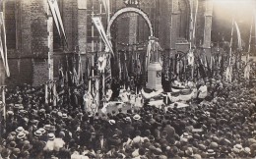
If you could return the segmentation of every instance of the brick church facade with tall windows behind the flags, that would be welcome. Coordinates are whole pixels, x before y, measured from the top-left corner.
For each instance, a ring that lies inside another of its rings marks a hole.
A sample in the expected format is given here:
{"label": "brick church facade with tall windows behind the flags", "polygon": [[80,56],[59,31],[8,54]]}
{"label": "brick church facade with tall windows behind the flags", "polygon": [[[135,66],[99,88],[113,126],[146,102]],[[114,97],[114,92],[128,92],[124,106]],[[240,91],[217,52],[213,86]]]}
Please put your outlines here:
{"label": "brick church facade with tall windows behind the flags", "polygon": [[[49,46],[53,51],[54,79],[58,78],[59,66],[65,68],[67,59],[76,58],[78,52],[81,53],[83,70],[86,69],[85,57],[98,51],[97,45],[100,45],[92,16],[101,16],[103,27],[106,28],[106,12],[99,0],[57,1],[66,42],[63,35],[58,34],[55,25],[50,25],[47,21],[51,16],[47,0],[3,1],[1,10],[5,16],[11,76],[6,77],[1,61],[0,84],[40,85],[46,82],[49,75]],[[154,36],[159,38],[164,55],[186,53],[190,47],[210,52],[212,0],[138,0],[138,3],[136,0],[110,0],[110,17],[129,5],[148,15]],[[49,28],[52,28],[52,32]],[[50,33],[51,41],[48,38]],[[133,49],[134,45],[138,46],[136,49],[145,51],[150,31],[140,15],[127,13],[116,19],[111,27],[111,36],[115,40],[117,51]]]}

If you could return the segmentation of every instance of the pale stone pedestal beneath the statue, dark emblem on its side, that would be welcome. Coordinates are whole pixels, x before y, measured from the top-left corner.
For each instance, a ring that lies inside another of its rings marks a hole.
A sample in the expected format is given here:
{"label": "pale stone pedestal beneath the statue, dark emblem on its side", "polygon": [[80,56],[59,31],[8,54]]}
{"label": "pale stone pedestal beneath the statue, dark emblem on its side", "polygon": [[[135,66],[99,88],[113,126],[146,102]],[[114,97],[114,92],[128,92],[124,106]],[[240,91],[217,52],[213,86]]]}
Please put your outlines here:
{"label": "pale stone pedestal beneath the statue, dark emblem on its side", "polygon": [[147,88],[160,90],[161,86],[161,66],[159,62],[150,63],[148,66]]}

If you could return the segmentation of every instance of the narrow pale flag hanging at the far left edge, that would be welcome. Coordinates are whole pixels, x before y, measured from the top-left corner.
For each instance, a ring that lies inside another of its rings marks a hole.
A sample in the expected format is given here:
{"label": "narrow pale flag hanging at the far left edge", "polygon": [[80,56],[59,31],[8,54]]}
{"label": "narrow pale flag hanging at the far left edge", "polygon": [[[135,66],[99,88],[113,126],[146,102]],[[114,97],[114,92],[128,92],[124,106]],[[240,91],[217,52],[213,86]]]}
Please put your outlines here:
{"label": "narrow pale flag hanging at the far left edge", "polygon": [[6,46],[6,30],[4,23],[4,14],[0,12],[0,52],[3,60],[4,69],[7,77],[10,77],[10,70],[7,58],[7,46]]}

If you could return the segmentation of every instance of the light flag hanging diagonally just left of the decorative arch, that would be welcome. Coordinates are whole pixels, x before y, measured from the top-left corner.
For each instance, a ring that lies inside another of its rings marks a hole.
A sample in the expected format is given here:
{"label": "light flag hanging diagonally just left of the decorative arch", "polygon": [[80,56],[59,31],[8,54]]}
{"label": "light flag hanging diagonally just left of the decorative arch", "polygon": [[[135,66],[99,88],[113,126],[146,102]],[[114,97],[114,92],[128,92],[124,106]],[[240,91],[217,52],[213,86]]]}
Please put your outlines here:
{"label": "light flag hanging diagonally just left of the decorative arch", "polygon": [[93,17],[92,19],[93,19],[94,24],[96,25],[96,28],[99,32],[99,35],[100,35],[101,39],[103,40],[103,42],[105,44],[105,47],[107,49],[109,49],[109,51],[112,55],[114,55],[114,52],[112,50],[112,45],[111,45],[110,41],[108,40],[108,38],[106,36],[105,30],[104,30],[104,27],[102,26],[100,18],[99,17]]}

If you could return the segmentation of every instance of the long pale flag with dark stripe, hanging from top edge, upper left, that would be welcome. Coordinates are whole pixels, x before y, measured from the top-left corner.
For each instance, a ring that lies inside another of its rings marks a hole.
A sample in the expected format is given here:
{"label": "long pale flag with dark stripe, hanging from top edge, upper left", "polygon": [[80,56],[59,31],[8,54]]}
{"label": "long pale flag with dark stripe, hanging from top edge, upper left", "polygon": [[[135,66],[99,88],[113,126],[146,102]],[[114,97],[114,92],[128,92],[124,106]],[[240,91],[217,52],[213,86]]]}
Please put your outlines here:
{"label": "long pale flag with dark stripe, hanging from top edge, upper left", "polygon": [[58,7],[58,2],[57,2],[57,0],[48,0],[48,4],[49,4],[49,7],[50,7],[50,11],[51,11],[53,20],[54,20],[55,25],[58,29],[59,35],[61,35],[61,33],[60,33],[60,27],[61,27],[62,33],[63,33],[64,38],[65,38],[65,42],[67,43],[67,37],[66,37],[65,29],[64,29],[63,22],[62,22],[62,19],[61,19],[59,7]]}

